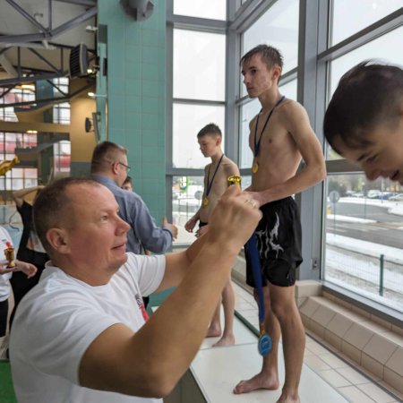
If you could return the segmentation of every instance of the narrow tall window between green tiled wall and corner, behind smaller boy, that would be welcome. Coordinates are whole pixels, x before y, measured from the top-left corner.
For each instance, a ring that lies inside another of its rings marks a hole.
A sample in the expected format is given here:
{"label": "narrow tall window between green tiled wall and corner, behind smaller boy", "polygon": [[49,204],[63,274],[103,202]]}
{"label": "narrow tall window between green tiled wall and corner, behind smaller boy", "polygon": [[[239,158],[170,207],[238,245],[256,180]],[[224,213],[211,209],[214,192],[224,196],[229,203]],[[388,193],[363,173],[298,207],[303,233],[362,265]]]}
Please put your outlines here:
{"label": "narrow tall window between green tiled wall and corner, behind smaller boy", "polygon": [[[224,9],[222,8],[224,4]],[[225,19],[226,2],[174,2],[174,13]],[[202,11],[201,11],[202,8]],[[183,24],[182,24],[183,25]],[[174,28],[172,88],[172,209],[179,227],[178,242],[192,242],[184,224],[200,207],[202,168],[210,163],[199,150],[197,133],[206,124],[218,124],[226,135],[226,35],[213,29]],[[224,147],[224,141],[223,141]],[[176,169],[181,169],[175,175]],[[185,176],[184,175],[185,169]],[[197,174],[194,169],[198,169]],[[199,198],[200,196],[200,198]]]}

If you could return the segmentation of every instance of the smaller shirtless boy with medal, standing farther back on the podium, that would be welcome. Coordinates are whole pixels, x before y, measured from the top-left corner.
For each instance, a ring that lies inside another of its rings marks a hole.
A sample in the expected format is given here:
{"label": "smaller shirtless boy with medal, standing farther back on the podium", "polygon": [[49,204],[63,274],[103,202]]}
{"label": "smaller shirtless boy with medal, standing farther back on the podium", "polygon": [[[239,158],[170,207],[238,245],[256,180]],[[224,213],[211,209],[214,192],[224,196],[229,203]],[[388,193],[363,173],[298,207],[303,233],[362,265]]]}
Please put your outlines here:
{"label": "smaller shirtless boy with medal, standing farther back on the podium", "polygon": [[[219,198],[227,190],[227,177],[239,176],[239,169],[236,163],[228,159],[221,150],[222,134],[217,124],[207,124],[197,134],[197,141],[204,157],[210,158],[211,163],[204,167],[204,192],[201,201],[201,208],[189,219],[184,228],[192,232],[197,221],[199,229],[196,236],[203,235],[208,230],[208,223],[212,210],[219,202]],[[224,308],[224,331],[221,339],[213,347],[229,346],[235,343],[233,332],[235,296],[234,289],[229,278],[222,291],[222,304]],[[207,337],[221,336],[220,306],[211,319]]]}

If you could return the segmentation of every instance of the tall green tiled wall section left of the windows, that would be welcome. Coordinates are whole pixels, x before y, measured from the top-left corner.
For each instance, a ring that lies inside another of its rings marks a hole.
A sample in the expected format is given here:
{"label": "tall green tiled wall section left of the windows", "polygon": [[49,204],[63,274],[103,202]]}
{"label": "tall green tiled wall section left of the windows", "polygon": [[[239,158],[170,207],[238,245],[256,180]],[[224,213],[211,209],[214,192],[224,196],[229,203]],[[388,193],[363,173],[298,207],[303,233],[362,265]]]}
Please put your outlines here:
{"label": "tall green tiled wall section left of the windows", "polygon": [[107,27],[107,139],[129,150],[134,190],[160,225],[165,215],[165,0],[133,21],[119,0],[98,1]]}

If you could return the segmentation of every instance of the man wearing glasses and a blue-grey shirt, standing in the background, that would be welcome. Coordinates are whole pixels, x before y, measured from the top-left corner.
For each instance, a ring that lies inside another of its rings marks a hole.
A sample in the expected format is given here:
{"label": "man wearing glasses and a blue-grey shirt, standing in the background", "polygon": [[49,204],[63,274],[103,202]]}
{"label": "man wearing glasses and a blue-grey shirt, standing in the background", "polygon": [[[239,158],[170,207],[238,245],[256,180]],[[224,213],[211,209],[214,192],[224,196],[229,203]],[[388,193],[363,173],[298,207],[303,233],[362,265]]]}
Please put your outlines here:
{"label": "man wearing glasses and a blue-grey shirt, standing in the background", "polygon": [[141,197],[121,189],[130,167],[127,150],[111,142],[102,141],[94,149],[91,160],[91,176],[114,193],[119,214],[130,224],[127,233],[127,252],[142,254],[143,248],[153,253],[164,253],[177,236],[177,228],[164,217],[162,227],[157,227],[150,210]]}

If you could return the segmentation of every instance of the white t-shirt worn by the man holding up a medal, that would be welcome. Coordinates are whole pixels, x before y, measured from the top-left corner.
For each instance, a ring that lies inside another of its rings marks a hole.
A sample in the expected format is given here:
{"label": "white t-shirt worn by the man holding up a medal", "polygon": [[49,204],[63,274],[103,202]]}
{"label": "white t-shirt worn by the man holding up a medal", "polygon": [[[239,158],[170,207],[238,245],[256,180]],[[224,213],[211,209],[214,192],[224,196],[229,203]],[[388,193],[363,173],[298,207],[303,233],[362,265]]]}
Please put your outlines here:
{"label": "white t-shirt worn by the man holding up a medal", "polygon": [[91,342],[115,323],[139,330],[144,318],[136,296],[150,295],[164,276],[163,255],[127,255],[109,283],[99,287],[47,262],[13,321],[10,358],[19,403],[161,402],[79,386],[81,357]]}

